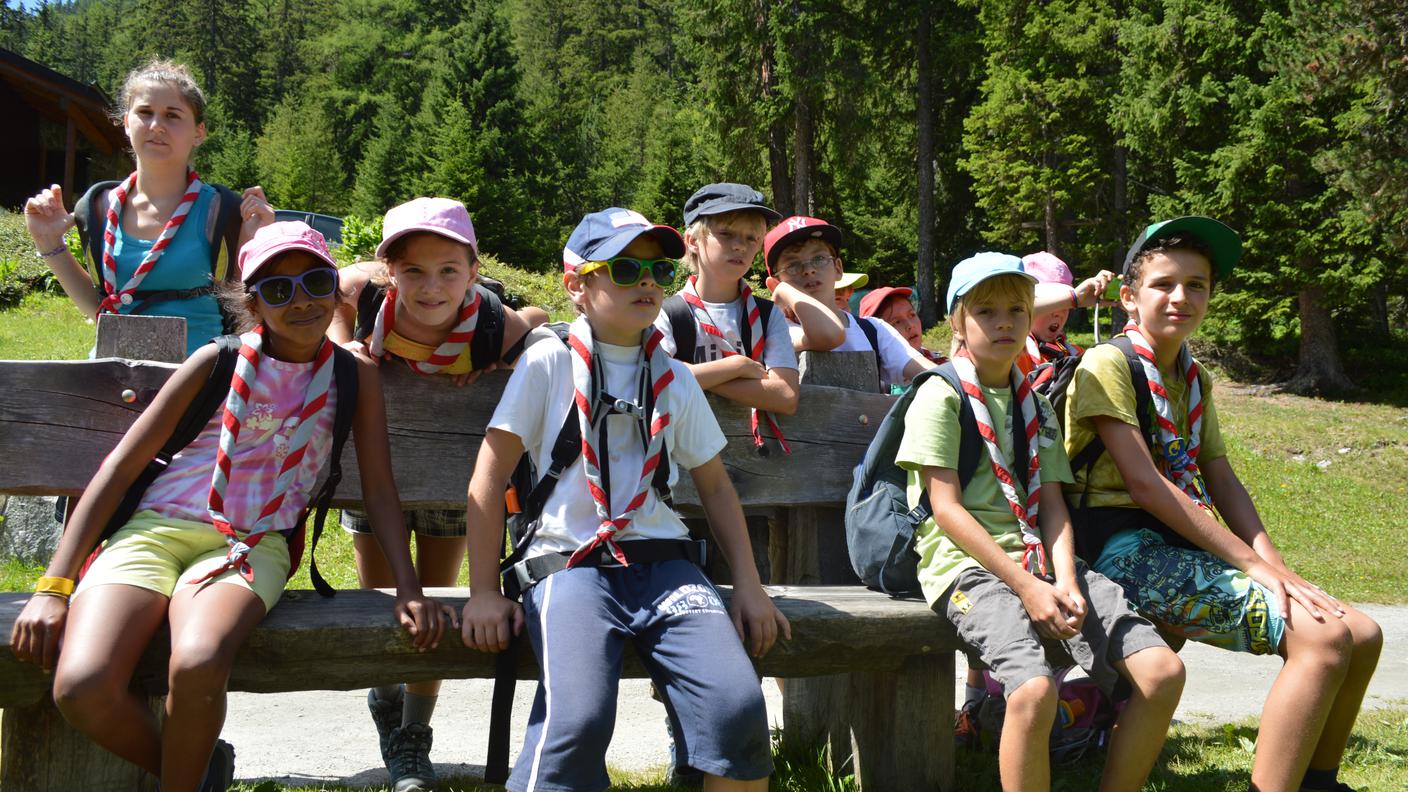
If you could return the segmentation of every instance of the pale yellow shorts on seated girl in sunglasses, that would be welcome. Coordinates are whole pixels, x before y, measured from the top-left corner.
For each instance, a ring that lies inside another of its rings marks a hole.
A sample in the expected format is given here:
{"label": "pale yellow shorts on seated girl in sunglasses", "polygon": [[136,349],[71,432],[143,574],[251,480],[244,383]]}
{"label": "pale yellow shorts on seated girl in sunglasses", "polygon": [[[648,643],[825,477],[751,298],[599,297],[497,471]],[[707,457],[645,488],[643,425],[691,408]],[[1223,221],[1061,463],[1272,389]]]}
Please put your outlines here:
{"label": "pale yellow shorts on seated girl in sunglasses", "polygon": [[[169,598],[177,586],[190,585],[220,567],[228,550],[224,534],[210,523],[142,510],[107,540],[73,596],[106,583],[127,583]],[[289,543],[283,534],[265,534],[249,551],[249,564],[255,571],[253,583],[234,569],[211,582],[253,590],[268,612],[289,582]]]}

